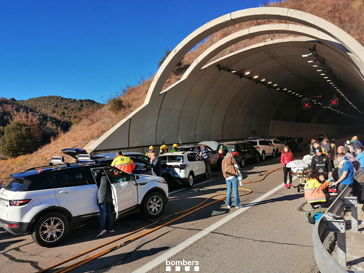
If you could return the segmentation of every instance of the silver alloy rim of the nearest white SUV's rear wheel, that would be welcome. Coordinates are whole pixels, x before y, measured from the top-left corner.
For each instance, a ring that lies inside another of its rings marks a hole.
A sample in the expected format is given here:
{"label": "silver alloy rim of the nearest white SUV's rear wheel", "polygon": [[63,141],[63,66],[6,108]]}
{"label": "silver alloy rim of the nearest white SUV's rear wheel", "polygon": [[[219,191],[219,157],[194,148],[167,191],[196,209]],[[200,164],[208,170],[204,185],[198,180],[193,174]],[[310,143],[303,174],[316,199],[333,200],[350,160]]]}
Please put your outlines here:
{"label": "silver alloy rim of the nearest white SUV's rear wheel", "polygon": [[59,240],[64,233],[64,223],[57,217],[46,219],[39,228],[40,238],[47,243]]}

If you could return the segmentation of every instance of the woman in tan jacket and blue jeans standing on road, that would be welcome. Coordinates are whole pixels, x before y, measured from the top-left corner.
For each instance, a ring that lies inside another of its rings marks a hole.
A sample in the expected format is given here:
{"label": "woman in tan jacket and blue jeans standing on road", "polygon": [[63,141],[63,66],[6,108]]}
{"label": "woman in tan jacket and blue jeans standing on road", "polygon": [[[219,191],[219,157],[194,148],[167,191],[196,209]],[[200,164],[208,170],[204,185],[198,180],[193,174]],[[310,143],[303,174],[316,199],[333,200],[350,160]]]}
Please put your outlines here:
{"label": "woman in tan jacket and blue jeans standing on road", "polygon": [[238,176],[241,175],[240,168],[236,160],[234,159],[234,155],[231,151],[226,153],[225,158],[222,160],[222,174],[226,181],[227,191],[226,191],[226,203],[227,207],[231,208],[232,200],[231,200],[231,189],[234,190],[234,203],[235,208],[240,208],[240,198],[239,198],[239,190],[238,190]]}

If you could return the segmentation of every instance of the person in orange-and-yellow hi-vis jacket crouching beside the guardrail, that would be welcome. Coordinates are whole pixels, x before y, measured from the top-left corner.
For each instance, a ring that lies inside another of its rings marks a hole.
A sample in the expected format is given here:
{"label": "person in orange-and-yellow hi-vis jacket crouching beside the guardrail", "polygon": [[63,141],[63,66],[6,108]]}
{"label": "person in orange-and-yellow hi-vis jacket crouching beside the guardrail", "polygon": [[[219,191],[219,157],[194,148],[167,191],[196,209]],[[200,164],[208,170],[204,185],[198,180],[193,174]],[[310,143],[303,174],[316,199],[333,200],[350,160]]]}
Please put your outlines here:
{"label": "person in orange-and-yellow hi-vis jacket crouching beside the guardrail", "polygon": [[[320,177],[325,180],[323,183],[320,182]],[[317,205],[321,207],[330,199],[329,191],[324,191],[329,186],[327,177],[327,173],[320,174],[316,170],[310,173],[309,180],[305,184],[305,198],[312,208]]]}

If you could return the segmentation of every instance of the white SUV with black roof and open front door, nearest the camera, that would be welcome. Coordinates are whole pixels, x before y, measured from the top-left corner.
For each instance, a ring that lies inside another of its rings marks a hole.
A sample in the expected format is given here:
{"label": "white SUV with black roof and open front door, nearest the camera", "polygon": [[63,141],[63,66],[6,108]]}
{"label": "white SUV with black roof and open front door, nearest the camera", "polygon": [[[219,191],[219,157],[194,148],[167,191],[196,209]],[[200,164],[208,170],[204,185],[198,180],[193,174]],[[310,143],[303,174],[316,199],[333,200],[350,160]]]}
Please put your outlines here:
{"label": "white SUV with black roof and open front door, nearest the camera", "polygon": [[[59,158],[57,163],[64,161]],[[103,171],[114,193],[116,217],[138,211],[150,218],[162,214],[168,201],[162,177],[136,176],[97,161],[63,163],[11,175],[0,189],[0,226],[14,235],[31,234],[44,247],[60,244],[70,228],[99,220],[97,191]]]}

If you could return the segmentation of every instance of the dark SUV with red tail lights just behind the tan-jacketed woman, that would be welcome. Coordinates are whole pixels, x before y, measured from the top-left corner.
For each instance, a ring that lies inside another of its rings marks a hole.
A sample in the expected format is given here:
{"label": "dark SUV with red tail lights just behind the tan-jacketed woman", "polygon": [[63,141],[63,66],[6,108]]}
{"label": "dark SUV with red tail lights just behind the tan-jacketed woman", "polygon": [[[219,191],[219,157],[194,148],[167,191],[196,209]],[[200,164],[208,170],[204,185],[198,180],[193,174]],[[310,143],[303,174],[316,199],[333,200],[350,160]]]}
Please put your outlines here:
{"label": "dark SUV with red tail lights just behind the tan-jacketed woman", "polygon": [[222,149],[223,155],[231,151],[240,167],[244,167],[247,162],[259,162],[260,153],[254,146],[245,141],[229,141],[219,143],[218,150]]}

